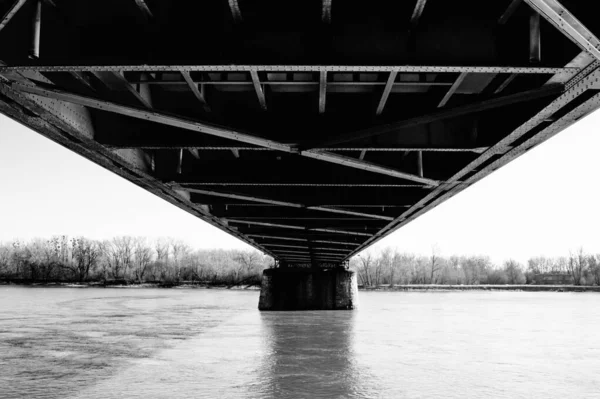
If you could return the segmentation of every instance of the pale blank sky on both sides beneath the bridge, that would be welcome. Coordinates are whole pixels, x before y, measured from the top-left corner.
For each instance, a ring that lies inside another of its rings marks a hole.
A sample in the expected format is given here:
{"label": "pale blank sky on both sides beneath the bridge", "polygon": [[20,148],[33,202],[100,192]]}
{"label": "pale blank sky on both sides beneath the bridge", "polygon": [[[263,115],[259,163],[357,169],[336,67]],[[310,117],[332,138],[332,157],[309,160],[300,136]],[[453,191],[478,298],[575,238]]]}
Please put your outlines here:
{"label": "pale blank sky on both sides beneath the bridge", "polygon": [[[367,251],[533,256],[600,253],[600,113],[438,205]],[[0,242],[67,234],[174,237],[250,248],[227,233],[0,115]]]}

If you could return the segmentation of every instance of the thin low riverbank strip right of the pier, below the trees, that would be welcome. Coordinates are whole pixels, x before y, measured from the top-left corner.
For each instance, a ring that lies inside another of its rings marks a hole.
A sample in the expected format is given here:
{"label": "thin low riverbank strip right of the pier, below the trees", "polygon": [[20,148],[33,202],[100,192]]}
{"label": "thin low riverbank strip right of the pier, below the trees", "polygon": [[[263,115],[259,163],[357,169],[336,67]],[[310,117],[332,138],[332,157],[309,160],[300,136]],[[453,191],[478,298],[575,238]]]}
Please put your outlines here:
{"label": "thin low riverbank strip right of the pier, below the trees", "polygon": [[551,292],[600,292],[600,286],[588,285],[441,285],[410,284],[394,286],[363,287],[361,291],[551,291]]}

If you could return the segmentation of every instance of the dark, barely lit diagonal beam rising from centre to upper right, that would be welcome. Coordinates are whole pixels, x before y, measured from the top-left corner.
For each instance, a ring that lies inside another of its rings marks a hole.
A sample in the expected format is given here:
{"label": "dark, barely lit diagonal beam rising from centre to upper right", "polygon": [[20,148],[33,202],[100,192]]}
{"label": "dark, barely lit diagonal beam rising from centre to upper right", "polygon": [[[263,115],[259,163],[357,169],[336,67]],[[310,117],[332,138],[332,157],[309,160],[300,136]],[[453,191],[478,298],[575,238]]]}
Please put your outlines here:
{"label": "dark, barely lit diagonal beam rising from centre to upper right", "polygon": [[488,100],[478,101],[473,104],[467,104],[448,109],[440,109],[414,118],[404,119],[398,122],[375,126],[373,128],[368,128],[355,132],[344,133],[329,140],[325,140],[318,143],[312,143],[312,145],[307,146],[308,148],[305,149],[316,147],[331,147],[341,143],[347,143],[349,141],[360,140],[369,137],[379,136],[385,133],[396,132],[400,129],[405,129],[408,127],[419,126],[427,123],[440,121],[443,119],[455,118],[458,116],[487,111],[490,109],[505,107],[521,102],[532,101],[560,94],[563,91],[563,89],[564,85],[557,83],[553,85],[547,85],[538,89],[528,90],[502,97],[494,97]]}

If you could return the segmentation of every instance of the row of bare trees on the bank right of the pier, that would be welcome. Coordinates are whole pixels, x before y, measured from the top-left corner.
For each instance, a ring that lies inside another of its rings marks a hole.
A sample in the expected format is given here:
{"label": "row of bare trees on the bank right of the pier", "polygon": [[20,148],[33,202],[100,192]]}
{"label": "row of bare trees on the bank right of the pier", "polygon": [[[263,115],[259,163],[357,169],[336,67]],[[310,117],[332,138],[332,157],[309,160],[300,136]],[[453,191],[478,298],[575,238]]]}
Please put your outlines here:
{"label": "row of bare trees on the bank right of the pier", "polygon": [[402,284],[545,284],[549,275],[565,284],[600,285],[600,255],[579,250],[568,257],[535,257],[523,265],[507,260],[494,264],[486,256],[429,256],[401,253],[391,248],[363,253],[350,263],[364,286]]}

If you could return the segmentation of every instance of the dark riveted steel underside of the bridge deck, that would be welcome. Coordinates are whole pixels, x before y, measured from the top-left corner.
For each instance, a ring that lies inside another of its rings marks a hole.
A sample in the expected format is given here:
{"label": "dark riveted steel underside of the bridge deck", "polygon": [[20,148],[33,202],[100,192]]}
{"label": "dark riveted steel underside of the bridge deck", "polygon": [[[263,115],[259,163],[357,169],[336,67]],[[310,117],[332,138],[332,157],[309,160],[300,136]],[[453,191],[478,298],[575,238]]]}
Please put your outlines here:
{"label": "dark riveted steel underside of the bridge deck", "polygon": [[341,265],[600,106],[592,3],[4,1],[0,112]]}

